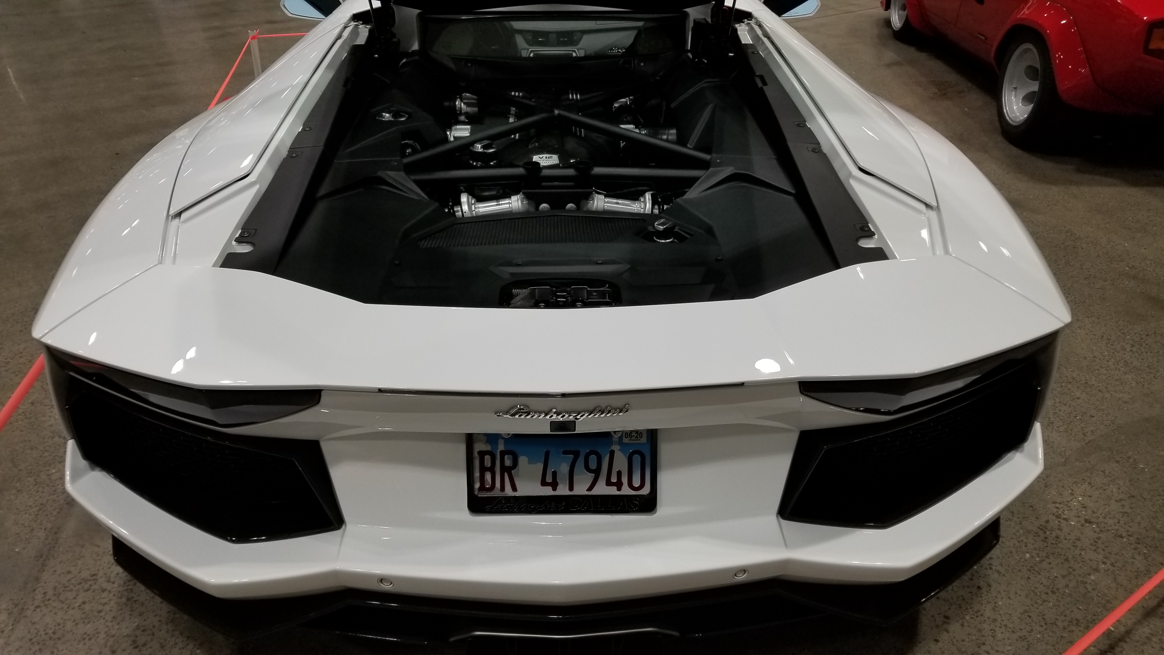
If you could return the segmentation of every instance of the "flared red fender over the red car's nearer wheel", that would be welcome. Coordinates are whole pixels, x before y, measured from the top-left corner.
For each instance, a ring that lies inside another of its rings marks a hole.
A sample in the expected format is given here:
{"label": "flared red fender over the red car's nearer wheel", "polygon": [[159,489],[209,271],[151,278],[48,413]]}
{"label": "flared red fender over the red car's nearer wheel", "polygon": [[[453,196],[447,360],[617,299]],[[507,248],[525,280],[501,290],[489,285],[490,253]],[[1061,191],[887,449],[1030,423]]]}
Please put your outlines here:
{"label": "flared red fender over the red car's nearer wheel", "polygon": [[[909,1],[909,0],[907,0]],[[994,66],[1001,65],[1010,35],[1029,27],[1043,35],[1055,68],[1055,85],[1063,101],[1084,110],[1114,113],[1148,113],[1145,110],[1107,93],[1095,84],[1076,21],[1062,5],[1048,0],[1030,0],[1010,17],[994,49]]]}

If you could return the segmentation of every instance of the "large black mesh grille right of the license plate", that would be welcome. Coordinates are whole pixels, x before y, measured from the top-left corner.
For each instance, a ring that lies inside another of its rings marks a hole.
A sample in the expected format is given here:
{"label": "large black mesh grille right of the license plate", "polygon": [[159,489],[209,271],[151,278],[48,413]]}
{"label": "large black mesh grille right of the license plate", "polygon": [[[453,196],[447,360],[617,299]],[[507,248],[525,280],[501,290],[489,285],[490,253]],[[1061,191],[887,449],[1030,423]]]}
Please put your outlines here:
{"label": "large black mesh grille right of the license plate", "polygon": [[988,378],[895,421],[802,431],[780,515],[886,528],[958,491],[1025,443],[1035,421],[1037,362]]}

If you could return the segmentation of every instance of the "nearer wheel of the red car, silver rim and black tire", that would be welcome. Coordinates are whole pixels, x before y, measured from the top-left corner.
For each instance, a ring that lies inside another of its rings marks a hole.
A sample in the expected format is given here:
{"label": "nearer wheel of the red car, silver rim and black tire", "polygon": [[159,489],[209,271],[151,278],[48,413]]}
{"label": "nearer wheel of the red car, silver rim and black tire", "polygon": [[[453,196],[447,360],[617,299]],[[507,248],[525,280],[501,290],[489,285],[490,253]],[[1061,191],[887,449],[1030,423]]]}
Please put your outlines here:
{"label": "nearer wheel of the red car, silver rim and black tire", "polygon": [[1010,41],[999,65],[995,93],[999,127],[1020,148],[1046,145],[1062,124],[1063,100],[1043,37],[1023,33]]}

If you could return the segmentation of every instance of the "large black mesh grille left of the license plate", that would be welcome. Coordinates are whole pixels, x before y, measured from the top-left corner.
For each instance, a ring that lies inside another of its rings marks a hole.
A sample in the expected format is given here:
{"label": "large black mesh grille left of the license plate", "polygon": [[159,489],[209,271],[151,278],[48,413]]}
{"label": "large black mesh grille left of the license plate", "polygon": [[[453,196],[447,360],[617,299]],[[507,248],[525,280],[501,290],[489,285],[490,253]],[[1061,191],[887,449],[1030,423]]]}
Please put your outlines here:
{"label": "large black mesh grille left of the license plate", "polygon": [[232,542],[342,524],[319,442],[212,432],[70,381],[81,456],[173,516]]}

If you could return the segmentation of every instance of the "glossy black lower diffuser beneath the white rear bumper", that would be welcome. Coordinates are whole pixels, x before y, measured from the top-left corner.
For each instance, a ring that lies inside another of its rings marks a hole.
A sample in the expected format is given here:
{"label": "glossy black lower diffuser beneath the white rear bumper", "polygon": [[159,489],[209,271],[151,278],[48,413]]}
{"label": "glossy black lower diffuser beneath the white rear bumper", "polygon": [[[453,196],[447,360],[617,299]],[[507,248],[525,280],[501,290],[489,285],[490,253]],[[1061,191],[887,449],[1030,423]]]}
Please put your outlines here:
{"label": "glossy black lower diffuser beneath the white rear bumper", "polygon": [[637,600],[572,606],[446,600],[342,590],[294,598],[222,599],[200,591],[113,538],[118,564],[206,626],[254,638],[291,626],[377,639],[448,642],[471,638],[702,636],[821,614],[887,625],[968,571],[999,541],[999,520],[924,571],[899,583],[832,585],[768,579]]}

